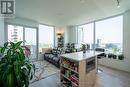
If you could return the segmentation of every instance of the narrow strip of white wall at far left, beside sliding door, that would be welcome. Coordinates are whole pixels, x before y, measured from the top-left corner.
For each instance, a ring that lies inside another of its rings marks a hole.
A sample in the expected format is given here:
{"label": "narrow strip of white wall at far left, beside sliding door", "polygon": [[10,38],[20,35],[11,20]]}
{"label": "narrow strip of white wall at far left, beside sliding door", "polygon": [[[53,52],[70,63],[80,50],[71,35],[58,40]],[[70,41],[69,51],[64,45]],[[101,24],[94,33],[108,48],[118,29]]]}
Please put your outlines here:
{"label": "narrow strip of white wall at far left, beside sliding door", "polygon": [[4,43],[4,18],[0,18],[0,46]]}

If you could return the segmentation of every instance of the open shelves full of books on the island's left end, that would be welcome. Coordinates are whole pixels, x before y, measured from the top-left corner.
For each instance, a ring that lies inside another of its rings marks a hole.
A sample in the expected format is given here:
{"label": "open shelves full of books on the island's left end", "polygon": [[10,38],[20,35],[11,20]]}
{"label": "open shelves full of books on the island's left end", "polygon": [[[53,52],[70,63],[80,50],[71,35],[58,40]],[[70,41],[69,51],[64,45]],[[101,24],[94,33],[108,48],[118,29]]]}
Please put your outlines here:
{"label": "open shelves full of books on the island's left end", "polygon": [[79,87],[78,63],[62,58],[61,81],[66,87]]}

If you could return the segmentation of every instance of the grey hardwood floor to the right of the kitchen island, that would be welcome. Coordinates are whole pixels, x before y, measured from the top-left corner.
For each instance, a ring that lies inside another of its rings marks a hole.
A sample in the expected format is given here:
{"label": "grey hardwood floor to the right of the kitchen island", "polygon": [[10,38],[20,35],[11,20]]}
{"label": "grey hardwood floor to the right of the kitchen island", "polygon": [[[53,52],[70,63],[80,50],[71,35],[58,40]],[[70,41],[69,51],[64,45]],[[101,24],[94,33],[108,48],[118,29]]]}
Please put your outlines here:
{"label": "grey hardwood floor to the right of the kitchen island", "polygon": [[130,87],[130,73],[100,66],[94,87]]}

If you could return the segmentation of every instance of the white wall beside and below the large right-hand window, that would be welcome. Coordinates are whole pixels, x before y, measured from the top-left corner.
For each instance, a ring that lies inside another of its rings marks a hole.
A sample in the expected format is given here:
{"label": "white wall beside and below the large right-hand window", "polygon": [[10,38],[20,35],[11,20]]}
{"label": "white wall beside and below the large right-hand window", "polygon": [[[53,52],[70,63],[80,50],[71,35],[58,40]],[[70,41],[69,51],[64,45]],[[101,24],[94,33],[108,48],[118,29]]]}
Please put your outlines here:
{"label": "white wall beside and below the large right-hand window", "polygon": [[104,58],[100,64],[130,72],[130,10],[123,15],[123,49],[124,60]]}

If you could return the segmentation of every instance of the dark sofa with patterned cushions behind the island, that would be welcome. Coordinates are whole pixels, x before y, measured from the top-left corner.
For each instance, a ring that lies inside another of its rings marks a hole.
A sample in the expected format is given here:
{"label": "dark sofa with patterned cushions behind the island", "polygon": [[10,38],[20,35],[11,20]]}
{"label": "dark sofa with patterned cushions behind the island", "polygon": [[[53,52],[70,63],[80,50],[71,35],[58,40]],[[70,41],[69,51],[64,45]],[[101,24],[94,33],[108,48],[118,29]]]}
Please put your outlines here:
{"label": "dark sofa with patterned cushions behind the island", "polygon": [[54,64],[55,66],[59,67],[59,61],[60,61],[60,55],[63,54],[63,48],[54,48],[51,50],[50,53],[44,54],[44,60],[47,60],[48,62]]}

